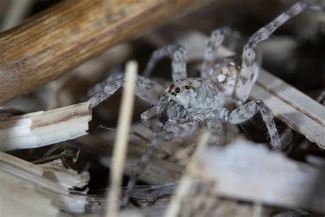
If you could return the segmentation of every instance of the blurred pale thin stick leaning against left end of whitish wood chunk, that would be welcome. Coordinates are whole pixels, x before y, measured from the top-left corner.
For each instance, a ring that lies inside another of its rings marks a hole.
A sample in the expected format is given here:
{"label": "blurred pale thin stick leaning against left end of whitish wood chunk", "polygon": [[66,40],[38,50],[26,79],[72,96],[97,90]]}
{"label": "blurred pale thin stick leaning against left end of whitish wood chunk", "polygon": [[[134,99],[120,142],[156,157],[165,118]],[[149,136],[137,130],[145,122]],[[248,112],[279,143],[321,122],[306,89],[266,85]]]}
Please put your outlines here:
{"label": "blurred pale thin stick leaning against left end of whitish wood chunk", "polygon": [[[197,161],[197,156],[200,156],[203,150],[206,148],[208,144],[208,138],[210,133],[208,131],[204,131],[200,136],[200,142],[197,145],[197,150],[195,155],[192,157],[192,162],[190,161],[189,164],[193,164]],[[182,179],[180,180],[180,184],[178,185],[177,191],[175,196],[173,196],[173,200],[171,201],[170,205],[167,208],[165,213],[165,217],[176,217],[178,216],[178,212],[180,212],[180,205],[182,203],[182,199],[189,193],[191,189],[191,185],[193,183],[193,179],[191,175],[186,172]]]}

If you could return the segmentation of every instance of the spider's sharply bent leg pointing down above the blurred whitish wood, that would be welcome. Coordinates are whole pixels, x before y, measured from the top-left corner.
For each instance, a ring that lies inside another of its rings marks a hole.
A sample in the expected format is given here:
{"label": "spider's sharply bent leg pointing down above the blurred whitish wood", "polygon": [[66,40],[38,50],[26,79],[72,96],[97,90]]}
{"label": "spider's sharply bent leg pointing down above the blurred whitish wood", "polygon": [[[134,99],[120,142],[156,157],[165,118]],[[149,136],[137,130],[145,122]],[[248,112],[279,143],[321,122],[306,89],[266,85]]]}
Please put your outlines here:
{"label": "spider's sharply bent leg pointing down above the blurred whitish wood", "polygon": [[261,113],[263,121],[267,126],[269,137],[271,139],[271,145],[274,150],[280,150],[281,141],[276,130],[276,124],[274,123],[274,117],[272,111],[261,100],[254,100],[240,106],[232,111],[228,117],[230,124],[241,124],[251,119],[258,111]]}

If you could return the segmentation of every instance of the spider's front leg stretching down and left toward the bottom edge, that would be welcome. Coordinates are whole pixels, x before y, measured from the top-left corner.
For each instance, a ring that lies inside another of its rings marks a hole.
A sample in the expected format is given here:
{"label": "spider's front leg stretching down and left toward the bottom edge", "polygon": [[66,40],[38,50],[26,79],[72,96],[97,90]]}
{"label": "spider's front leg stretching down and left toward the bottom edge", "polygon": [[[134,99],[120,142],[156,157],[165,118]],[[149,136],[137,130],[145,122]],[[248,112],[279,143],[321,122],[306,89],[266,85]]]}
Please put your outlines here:
{"label": "spider's front leg stretching down and left toward the bottom edge", "polygon": [[134,169],[132,170],[130,175],[130,181],[128,182],[128,185],[124,192],[123,200],[121,202],[122,208],[128,205],[130,193],[132,192],[132,189],[136,183],[136,180],[139,177],[139,174],[149,164],[150,159],[152,158],[156,150],[159,148],[159,146],[163,144],[165,140],[171,140],[174,137],[189,137],[200,129],[199,120],[193,120],[193,122],[185,122],[182,124],[175,124],[175,122],[170,123],[171,124],[167,122],[167,124],[165,124],[165,130],[156,135],[154,139],[152,139],[149,148],[147,148],[145,153],[142,155],[141,159],[136,163]]}

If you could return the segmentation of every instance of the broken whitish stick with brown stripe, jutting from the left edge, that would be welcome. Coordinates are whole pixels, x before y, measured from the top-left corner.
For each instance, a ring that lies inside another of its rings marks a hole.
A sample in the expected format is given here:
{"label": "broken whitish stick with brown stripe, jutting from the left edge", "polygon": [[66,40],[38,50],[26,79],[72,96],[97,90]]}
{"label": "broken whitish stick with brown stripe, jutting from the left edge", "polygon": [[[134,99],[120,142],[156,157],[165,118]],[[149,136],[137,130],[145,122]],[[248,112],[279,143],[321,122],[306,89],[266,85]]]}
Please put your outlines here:
{"label": "broken whitish stick with brown stripe, jutting from the left edge", "polygon": [[0,150],[37,148],[87,134],[89,102],[26,115],[0,116]]}

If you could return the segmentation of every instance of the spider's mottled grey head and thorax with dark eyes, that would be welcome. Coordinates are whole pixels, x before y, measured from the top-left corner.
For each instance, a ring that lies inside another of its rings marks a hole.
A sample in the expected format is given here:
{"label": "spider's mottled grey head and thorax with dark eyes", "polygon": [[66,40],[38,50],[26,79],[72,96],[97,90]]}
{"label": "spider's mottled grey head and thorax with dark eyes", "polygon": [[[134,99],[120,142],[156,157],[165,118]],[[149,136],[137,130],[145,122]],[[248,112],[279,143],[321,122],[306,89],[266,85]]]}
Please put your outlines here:
{"label": "spider's mottled grey head and thorax with dark eyes", "polygon": [[167,88],[157,104],[161,122],[193,119],[195,113],[221,109],[225,99],[217,85],[204,78],[177,80]]}

